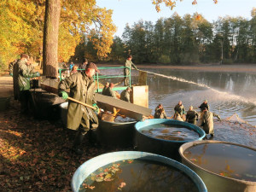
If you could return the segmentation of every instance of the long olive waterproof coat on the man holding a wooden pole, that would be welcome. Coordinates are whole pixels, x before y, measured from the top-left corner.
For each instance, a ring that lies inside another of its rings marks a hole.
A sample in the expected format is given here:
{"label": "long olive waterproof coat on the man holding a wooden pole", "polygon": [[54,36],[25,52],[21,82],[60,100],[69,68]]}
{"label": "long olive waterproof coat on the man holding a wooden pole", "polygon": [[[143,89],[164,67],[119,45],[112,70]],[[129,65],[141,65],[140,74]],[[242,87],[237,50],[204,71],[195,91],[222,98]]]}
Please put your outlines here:
{"label": "long olive waterproof coat on the man holding a wooden pole", "polygon": [[[59,93],[70,89],[70,97],[80,102],[85,102],[92,106],[95,101],[95,82],[92,78],[83,73],[75,73],[64,79],[59,84]],[[85,114],[85,115],[84,115]],[[96,113],[91,108],[86,108],[77,102],[68,101],[67,107],[67,128],[77,130],[81,123],[82,117],[86,121],[87,128],[98,125]]]}

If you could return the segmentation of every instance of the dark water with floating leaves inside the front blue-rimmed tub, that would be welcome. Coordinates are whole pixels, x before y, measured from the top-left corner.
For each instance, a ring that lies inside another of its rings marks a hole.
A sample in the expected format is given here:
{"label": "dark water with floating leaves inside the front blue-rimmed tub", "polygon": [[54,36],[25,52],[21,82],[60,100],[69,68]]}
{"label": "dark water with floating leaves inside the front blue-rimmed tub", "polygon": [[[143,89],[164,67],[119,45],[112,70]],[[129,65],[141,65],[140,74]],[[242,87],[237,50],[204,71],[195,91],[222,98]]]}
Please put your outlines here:
{"label": "dark water with floating leaves inside the front blue-rimmed tub", "polygon": [[79,192],[196,192],[195,183],[175,167],[149,160],[120,160],[85,178]]}

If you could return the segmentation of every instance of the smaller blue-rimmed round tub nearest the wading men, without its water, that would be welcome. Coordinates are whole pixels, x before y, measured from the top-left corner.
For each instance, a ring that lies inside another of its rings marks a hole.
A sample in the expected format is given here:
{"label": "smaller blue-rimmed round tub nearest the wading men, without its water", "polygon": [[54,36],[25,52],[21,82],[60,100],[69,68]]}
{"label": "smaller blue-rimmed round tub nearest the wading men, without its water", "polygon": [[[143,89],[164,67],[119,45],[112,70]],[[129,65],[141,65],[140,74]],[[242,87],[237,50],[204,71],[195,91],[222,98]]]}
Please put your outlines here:
{"label": "smaller blue-rimmed round tub nearest the wading men, without its water", "polygon": [[172,120],[172,119],[147,119],[147,120],[138,122],[135,125],[136,146],[138,150],[146,151],[154,154],[162,154],[167,157],[171,157],[174,160],[180,160],[180,156],[178,154],[178,148],[183,143],[188,143],[189,141],[164,140],[164,139],[159,139],[154,137],[148,137],[147,135],[142,133],[144,127],[148,125],[157,125],[157,124],[182,125],[183,127],[187,127],[189,129],[196,131],[199,134],[199,138],[197,140],[202,140],[202,138],[206,136],[205,131],[203,131],[200,127],[186,123],[186,122]]}

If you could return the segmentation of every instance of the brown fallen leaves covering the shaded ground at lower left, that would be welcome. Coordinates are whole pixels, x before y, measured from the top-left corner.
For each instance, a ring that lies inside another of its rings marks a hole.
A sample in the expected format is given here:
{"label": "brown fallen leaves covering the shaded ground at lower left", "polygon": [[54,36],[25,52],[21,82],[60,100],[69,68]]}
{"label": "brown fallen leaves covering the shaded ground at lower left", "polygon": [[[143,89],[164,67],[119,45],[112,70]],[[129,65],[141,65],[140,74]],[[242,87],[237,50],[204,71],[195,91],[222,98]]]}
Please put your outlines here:
{"label": "brown fallen leaves covering the shaded ground at lower left", "polygon": [[[20,114],[20,103],[0,112],[0,187],[3,191],[71,191],[73,173],[86,160],[131,148],[95,147],[84,138],[83,155],[73,154],[75,132],[61,120],[49,122]],[[88,186],[93,188],[93,186]]]}

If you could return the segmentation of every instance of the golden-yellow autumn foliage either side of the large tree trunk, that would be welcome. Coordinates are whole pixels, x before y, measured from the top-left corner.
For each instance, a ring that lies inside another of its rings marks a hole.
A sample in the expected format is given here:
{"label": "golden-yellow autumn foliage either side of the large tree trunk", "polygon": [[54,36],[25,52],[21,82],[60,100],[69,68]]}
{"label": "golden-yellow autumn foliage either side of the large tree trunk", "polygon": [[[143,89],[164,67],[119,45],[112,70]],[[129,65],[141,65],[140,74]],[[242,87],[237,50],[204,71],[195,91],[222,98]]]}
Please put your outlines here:
{"label": "golden-yellow autumn foliage either side of the large tree trunk", "polygon": [[[45,0],[13,0],[0,3],[0,67],[26,52],[35,59],[43,47]],[[96,0],[61,0],[59,29],[59,61],[68,61],[74,54],[82,35],[91,38],[96,33],[94,49],[97,55],[106,56],[113,44],[116,28],[112,10],[102,9]]]}

